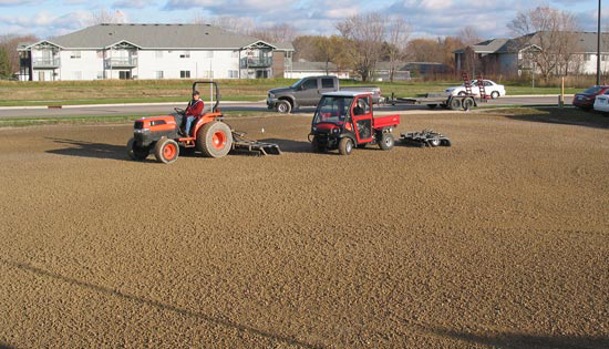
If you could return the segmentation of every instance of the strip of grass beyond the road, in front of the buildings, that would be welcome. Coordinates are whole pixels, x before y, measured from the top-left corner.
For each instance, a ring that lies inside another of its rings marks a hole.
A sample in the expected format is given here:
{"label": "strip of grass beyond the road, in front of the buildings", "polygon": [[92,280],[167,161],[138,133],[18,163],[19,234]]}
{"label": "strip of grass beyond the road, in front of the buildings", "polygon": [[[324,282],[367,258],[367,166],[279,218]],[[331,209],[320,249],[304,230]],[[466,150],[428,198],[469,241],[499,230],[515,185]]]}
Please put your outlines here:
{"label": "strip of grass beyond the road, in front of the buildings", "polygon": [[[261,101],[269,89],[287,86],[291,79],[221,80],[218,81],[223,101]],[[185,102],[189,99],[192,80],[106,80],[106,81],[56,81],[18,82],[0,81],[0,106],[18,105],[68,105],[68,104],[113,104]],[[425,92],[442,92],[461,82],[354,82],[343,81],[342,85],[378,85],[385,95],[392,92],[398,96],[415,96]],[[204,100],[208,90],[198,88]],[[536,88],[507,85],[508,95],[558,94],[558,88]],[[580,89],[566,89],[571,94]]]}

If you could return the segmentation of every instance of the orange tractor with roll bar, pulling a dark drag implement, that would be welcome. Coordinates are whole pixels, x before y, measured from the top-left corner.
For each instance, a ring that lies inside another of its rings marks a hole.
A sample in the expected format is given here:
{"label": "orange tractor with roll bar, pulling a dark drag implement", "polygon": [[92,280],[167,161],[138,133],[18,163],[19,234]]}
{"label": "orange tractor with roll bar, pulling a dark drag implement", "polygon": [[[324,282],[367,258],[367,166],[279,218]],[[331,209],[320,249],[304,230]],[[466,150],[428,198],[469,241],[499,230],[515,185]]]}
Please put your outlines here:
{"label": "orange tractor with roll bar, pulling a dark drag implement", "polygon": [[215,91],[216,102],[208,113],[196,115],[190,132],[182,132],[185,111],[178,107],[172,115],[142,117],[135,121],[133,138],[127,143],[127,154],[131,158],[143,161],[151,152],[161,163],[169,164],[177,160],[180,152],[198,151],[208,157],[223,157],[229,152],[255,155],[279,155],[279,145],[262,143],[245,137],[245,133],[235,132],[224,122],[218,110],[220,92],[214,81],[197,81],[193,83],[193,92],[197,84],[209,84]]}

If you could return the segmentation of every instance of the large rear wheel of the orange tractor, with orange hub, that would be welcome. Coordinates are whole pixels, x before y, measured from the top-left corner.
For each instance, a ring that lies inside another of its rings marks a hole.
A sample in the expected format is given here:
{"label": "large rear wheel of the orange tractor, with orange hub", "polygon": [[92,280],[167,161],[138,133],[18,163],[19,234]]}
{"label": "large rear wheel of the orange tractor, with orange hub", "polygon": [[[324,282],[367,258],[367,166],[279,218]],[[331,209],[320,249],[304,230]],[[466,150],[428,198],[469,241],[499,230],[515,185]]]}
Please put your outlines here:
{"label": "large rear wheel of the orange tractor, with orange hub", "polygon": [[208,157],[226,156],[233,147],[233,132],[221,121],[207,123],[197,132],[196,147]]}

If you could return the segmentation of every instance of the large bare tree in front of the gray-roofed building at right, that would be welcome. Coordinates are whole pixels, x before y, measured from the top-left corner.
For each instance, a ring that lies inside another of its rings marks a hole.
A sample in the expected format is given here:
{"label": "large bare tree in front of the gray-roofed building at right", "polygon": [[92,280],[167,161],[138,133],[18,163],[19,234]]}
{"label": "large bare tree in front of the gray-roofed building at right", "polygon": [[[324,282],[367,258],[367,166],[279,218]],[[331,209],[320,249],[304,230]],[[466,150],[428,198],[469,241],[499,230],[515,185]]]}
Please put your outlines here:
{"label": "large bare tree in front of the gray-roofed building at right", "polygon": [[517,35],[516,48],[525,65],[538,70],[548,81],[555,74],[568,74],[576,65],[579,45],[572,13],[548,6],[518,12],[508,28]]}

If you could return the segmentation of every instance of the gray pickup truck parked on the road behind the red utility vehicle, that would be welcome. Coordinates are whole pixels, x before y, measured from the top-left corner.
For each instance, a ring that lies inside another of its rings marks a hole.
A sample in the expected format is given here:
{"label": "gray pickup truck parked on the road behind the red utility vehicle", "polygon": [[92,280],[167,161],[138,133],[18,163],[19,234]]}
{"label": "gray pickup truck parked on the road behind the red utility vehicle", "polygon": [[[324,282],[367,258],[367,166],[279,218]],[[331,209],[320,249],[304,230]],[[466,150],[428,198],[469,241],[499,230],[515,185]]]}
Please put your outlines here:
{"label": "gray pickup truck parked on the road behind the red utility vehicle", "polygon": [[308,76],[302,78],[289,88],[269,90],[267,97],[268,109],[280,113],[289,113],[296,107],[314,106],[321,94],[336,91],[358,91],[372,93],[374,103],[383,102],[381,89],[378,86],[348,86],[340,88],[337,76]]}

